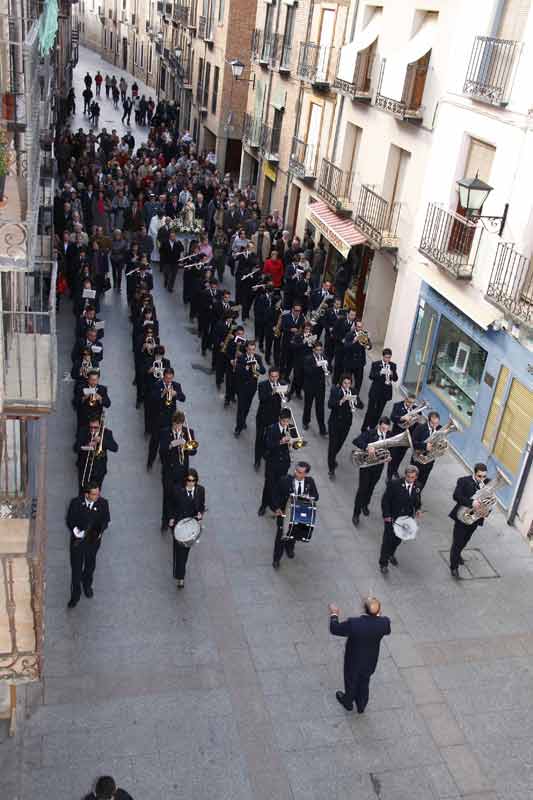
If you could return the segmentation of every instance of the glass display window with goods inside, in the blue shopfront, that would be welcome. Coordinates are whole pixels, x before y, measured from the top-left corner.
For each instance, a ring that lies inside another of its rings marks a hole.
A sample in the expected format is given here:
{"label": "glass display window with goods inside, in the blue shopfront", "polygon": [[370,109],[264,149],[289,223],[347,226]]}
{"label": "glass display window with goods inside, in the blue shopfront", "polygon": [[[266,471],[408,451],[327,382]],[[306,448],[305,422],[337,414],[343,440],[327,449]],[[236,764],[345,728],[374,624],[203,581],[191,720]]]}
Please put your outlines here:
{"label": "glass display window with goods inside, in the blue shopfront", "polygon": [[441,318],[428,385],[462,425],[471,423],[486,360],[486,350]]}

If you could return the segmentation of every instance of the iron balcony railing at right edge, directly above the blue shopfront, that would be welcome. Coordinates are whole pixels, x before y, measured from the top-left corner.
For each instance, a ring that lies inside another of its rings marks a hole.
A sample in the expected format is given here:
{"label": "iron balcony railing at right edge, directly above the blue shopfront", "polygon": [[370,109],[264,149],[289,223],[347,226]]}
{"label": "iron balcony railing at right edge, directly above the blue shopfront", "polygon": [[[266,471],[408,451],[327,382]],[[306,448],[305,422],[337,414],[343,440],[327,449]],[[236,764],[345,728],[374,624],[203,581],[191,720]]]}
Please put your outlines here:
{"label": "iron balcony railing at right edge, directly above the blue shopfront", "polygon": [[533,266],[531,258],[500,242],[487,287],[487,299],[517,322],[533,328]]}

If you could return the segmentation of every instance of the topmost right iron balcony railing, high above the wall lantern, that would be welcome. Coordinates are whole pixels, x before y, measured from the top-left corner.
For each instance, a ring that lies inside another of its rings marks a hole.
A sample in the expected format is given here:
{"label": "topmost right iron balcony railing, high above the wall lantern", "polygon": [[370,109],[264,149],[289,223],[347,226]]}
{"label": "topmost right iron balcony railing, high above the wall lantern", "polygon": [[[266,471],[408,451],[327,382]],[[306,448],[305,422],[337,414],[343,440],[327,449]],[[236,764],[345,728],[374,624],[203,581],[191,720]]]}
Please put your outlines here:
{"label": "topmost right iron balcony railing, high above the wall lantern", "polygon": [[520,42],[477,36],[463,86],[463,92],[492,105],[509,102]]}

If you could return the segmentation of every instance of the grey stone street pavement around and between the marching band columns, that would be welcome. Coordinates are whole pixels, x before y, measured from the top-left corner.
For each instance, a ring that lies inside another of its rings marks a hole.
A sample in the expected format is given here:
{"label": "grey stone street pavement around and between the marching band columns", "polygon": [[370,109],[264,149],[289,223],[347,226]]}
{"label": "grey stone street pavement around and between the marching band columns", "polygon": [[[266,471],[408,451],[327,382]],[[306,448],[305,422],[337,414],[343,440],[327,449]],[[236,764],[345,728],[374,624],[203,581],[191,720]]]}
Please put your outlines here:
{"label": "grey stone street pavement around and between the marching band columns", "polygon": [[[89,63],[94,71],[95,57],[82,49],[78,84]],[[350,447],[331,483],[315,429],[306,457],[321,495],[320,524],[294,561],[274,572],[274,523],[256,514],[253,416],[236,441],[234,410],[224,411],[213,379],[196,368],[199,343],[180,291],[164,293],[155,278],[162,340],[200,441],[195,466],[207,489],[206,531],[177,592],[171,543],[159,533],[158,470],[144,469],[125,298],[110,292],[103,376],[120,444],[105,484],[112,526],[98,555],[94,599],[67,612],[74,419],[72,387],[62,383],[50,424],[45,703],[11,745],[21,762],[20,800],[79,798],[103,772],[135,800],[531,796],[533,560],[526,544],[496,513],[472,541],[481,550],[467,553],[474,577],[450,579],[447,514],[464,473],[450,456],[424,493],[419,538],[400,548],[400,567],[384,578],[377,570],[383,485],[356,531]],[[63,370],[72,328],[65,305]],[[294,407],[300,417],[300,404]],[[343,641],[329,636],[326,606],[335,600],[344,613],[358,612],[368,592],[381,598],[393,634],[367,713],[349,715],[335,701]]]}

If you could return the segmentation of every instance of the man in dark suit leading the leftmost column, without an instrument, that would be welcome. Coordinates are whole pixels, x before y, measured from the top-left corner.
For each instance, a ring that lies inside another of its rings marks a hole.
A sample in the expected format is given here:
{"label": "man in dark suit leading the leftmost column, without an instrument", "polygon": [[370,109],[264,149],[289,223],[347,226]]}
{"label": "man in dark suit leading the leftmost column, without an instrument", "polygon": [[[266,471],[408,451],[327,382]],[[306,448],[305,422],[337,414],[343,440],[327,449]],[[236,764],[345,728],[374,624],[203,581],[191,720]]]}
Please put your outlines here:
{"label": "man in dark suit leading the leftmost column, without an instrument", "polygon": [[95,483],[90,483],[82,497],[70,501],[67,512],[70,536],[70,568],[72,571],[69,608],[74,608],[81,597],[81,587],[86,597],[93,596],[93,575],[96,554],[102,534],[109,525],[109,504],[100,495]]}

